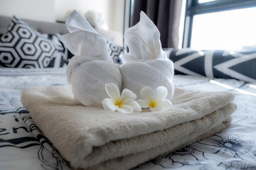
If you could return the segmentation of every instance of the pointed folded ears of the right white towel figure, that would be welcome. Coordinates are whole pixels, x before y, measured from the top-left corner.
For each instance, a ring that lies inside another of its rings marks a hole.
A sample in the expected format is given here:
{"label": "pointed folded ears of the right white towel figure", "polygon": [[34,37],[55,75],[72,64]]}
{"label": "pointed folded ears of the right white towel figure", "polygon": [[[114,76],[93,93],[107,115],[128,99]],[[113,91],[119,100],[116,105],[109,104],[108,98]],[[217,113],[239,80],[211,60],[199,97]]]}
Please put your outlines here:
{"label": "pointed folded ears of the right white towel figure", "polygon": [[125,31],[124,41],[129,47],[129,53],[122,57],[124,63],[166,58],[166,53],[161,49],[159,30],[143,11],[140,13],[139,23]]}

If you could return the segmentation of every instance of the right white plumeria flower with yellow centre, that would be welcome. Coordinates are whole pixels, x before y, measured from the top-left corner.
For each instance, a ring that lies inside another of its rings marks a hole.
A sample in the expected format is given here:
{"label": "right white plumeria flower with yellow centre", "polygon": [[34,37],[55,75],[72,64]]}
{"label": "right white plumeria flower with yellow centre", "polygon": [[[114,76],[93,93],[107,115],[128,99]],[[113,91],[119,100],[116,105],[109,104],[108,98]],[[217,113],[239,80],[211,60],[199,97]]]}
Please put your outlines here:
{"label": "right white plumeria flower with yellow centre", "polygon": [[149,108],[150,111],[161,111],[171,108],[171,101],[165,99],[168,90],[164,86],[159,86],[154,92],[151,87],[145,86],[141,93],[144,99],[139,99],[137,102],[142,108]]}

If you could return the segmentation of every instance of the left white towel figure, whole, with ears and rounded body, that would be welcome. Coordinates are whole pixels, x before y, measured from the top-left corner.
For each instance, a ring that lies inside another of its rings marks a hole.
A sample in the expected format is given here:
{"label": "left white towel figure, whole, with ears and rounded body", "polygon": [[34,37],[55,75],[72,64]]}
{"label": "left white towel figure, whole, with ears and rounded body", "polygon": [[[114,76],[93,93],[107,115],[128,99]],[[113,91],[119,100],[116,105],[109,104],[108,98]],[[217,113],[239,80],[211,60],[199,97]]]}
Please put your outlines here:
{"label": "left white towel figure, whole, with ears and rounded body", "polygon": [[70,13],[66,26],[70,33],[60,40],[75,55],[67,67],[68,83],[76,101],[84,106],[102,108],[107,98],[105,84],[114,83],[122,89],[119,65],[107,52],[107,42],[77,11]]}

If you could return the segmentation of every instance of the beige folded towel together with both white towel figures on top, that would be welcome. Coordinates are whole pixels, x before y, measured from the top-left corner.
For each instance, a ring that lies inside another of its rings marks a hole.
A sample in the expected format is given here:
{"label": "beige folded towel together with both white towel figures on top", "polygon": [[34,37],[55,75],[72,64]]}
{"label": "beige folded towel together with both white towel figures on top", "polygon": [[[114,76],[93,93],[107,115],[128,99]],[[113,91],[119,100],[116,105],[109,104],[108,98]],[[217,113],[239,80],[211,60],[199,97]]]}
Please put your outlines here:
{"label": "beige folded towel together with both white towel figures on top", "polygon": [[[132,169],[230,124],[236,109],[233,94],[174,88],[173,64],[144,13],[124,35],[129,53],[121,66],[106,55],[104,38],[78,13],[70,14],[67,25],[70,33],[61,39],[76,55],[67,68],[72,86],[30,87],[21,102],[73,169]],[[145,86],[165,86],[172,106],[129,114],[103,109],[108,83],[133,91],[138,99]]]}

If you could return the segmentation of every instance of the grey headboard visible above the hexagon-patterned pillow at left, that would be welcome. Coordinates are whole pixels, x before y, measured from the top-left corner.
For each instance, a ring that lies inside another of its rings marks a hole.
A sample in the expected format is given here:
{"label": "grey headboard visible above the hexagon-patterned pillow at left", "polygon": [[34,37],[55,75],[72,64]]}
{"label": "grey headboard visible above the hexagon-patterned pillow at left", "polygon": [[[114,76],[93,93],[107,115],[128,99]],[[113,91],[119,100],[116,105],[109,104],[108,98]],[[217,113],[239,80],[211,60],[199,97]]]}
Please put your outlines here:
{"label": "grey headboard visible above the hexagon-patterned pillow at left", "polygon": [[[11,22],[11,18],[9,16],[0,16],[0,34],[4,34],[7,31],[9,23]],[[38,30],[40,33],[59,33],[60,35],[68,33],[68,29],[66,28],[64,23],[48,23],[43,21],[33,21],[28,19],[22,19],[29,26]]]}

